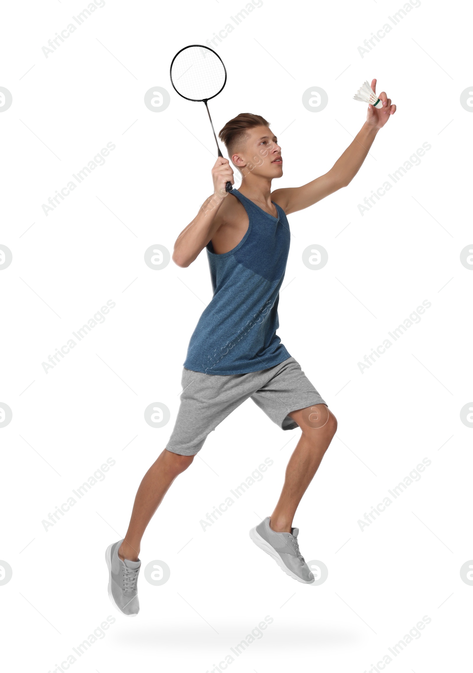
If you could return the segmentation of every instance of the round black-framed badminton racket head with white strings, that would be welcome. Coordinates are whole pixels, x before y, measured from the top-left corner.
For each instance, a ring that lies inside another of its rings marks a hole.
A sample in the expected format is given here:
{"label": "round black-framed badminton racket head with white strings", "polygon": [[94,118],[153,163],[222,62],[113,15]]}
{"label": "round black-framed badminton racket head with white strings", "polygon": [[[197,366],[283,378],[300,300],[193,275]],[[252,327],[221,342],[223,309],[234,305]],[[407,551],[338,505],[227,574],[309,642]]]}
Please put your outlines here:
{"label": "round black-framed badminton racket head with white strings", "polygon": [[172,59],[170,77],[179,96],[203,102],[221,92],[227,82],[227,71],[213,49],[203,44],[189,44]]}

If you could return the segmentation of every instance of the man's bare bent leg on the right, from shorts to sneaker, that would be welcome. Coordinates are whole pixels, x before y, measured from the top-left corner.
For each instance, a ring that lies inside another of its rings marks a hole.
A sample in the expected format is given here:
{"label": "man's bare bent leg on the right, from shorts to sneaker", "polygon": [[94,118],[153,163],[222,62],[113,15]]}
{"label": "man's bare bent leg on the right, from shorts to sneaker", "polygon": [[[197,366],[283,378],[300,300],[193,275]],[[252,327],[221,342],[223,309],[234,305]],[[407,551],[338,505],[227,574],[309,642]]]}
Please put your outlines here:
{"label": "man's bare bent leg on the right, from shorts to sneaker", "polygon": [[336,418],[325,404],[292,411],[289,416],[302,430],[286,468],[281,496],[269,525],[277,532],[291,532],[295,510],[311,483],[336,432]]}

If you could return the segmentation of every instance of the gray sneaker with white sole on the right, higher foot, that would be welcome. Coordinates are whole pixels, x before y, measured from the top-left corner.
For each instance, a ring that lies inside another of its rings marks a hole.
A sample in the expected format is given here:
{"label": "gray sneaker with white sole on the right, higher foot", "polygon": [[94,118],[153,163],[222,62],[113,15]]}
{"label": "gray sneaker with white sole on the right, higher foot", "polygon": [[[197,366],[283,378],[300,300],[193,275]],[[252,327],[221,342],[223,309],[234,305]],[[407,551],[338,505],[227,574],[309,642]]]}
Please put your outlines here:
{"label": "gray sneaker with white sole on the right, higher foot", "polygon": [[262,520],[250,530],[250,538],[262,551],[269,554],[289,577],[304,584],[315,581],[313,573],[299,551],[297,536],[299,528],[291,528],[290,533],[278,533],[269,527],[270,517]]}

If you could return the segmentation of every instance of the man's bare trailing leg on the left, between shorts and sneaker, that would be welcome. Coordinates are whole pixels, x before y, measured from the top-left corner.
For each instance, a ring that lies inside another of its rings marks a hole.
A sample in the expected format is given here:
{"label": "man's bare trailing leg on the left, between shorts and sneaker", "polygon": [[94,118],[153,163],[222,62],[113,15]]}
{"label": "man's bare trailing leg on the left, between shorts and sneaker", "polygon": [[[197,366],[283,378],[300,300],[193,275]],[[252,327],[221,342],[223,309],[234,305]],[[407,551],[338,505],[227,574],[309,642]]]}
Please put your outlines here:
{"label": "man's bare trailing leg on the left, between shorts and sneaker", "polygon": [[138,560],[141,538],[151,521],[151,517],[176,476],[184,472],[192,460],[194,460],[194,456],[181,456],[164,449],[143,476],[135,496],[128,530],[118,549],[118,556],[122,561],[124,559]]}

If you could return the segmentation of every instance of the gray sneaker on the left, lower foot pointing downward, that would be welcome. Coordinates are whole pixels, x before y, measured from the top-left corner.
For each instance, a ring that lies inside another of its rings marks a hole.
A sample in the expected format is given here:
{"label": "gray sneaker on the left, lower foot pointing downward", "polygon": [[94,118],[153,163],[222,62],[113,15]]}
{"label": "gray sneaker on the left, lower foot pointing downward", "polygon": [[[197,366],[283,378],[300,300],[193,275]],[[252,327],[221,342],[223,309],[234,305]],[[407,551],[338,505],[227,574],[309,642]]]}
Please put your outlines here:
{"label": "gray sneaker on the left, lower foot pointing downward", "polygon": [[141,561],[124,562],[118,556],[123,540],[110,544],[105,553],[108,567],[108,598],[117,610],[127,617],[135,617],[139,612],[137,581]]}

